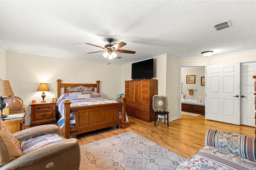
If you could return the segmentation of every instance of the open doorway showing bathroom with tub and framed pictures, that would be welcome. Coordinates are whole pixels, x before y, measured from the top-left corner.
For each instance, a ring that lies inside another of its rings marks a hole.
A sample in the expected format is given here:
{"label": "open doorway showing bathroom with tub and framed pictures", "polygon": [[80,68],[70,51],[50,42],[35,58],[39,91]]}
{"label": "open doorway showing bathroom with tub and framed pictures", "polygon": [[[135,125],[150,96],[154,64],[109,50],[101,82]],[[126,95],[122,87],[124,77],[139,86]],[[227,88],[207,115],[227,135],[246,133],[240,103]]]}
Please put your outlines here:
{"label": "open doorway showing bathroom with tub and framed pictures", "polygon": [[205,113],[206,66],[180,66],[180,118]]}

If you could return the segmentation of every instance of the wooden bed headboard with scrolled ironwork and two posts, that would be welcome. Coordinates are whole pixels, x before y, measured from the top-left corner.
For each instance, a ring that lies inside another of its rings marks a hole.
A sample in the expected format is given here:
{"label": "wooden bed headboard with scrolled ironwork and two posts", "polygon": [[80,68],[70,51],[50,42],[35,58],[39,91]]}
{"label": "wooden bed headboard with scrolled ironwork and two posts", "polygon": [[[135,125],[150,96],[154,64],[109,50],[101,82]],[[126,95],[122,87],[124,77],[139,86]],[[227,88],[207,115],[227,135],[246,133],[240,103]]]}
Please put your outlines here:
{"label": "wooden bed headboard with scrolled ironwork and two posts", "polygon": [[70,92],[83,92],[83,91],[92,91],[100,93],[100,81],[97,80],[96,84],[85,84],[85,83],[61,83],[61,80],[58,79],[58,98],[61,95],[61,88],[64,88],[64,93]]}

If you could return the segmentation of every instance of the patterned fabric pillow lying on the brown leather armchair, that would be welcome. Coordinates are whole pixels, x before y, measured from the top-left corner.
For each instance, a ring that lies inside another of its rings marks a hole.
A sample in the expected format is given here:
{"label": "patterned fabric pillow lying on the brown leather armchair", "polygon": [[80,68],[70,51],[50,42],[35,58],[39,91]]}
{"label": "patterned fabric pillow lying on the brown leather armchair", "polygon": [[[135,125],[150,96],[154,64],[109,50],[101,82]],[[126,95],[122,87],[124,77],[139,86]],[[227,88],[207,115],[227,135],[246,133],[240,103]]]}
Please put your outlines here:
{"label": "patterned fabric pillow lying on the brown leather armchair", "polygon": [[22,140],[22,143],[21,143],[22,154],[31,152],[32,150],[44,147],[52,143],[56,143],[58,141],[63,141],[63,140],[66,140],[66,139],[59,137],[58,134],[44,135],[44,133],[41,133],[41,134],[37,134],[36,137],[35,135],[33,135],[32,137],[28,137]]}

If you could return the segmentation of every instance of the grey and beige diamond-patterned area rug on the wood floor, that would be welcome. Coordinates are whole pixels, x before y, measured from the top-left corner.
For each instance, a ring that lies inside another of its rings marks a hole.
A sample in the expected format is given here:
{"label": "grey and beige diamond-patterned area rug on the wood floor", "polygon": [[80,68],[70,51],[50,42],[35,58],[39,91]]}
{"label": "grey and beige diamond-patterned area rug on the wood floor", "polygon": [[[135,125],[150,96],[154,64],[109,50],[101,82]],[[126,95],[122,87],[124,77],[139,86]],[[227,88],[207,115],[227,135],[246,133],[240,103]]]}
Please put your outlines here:
{"label": "grey and beige diamond-patterned area rug on the wood floor", "polygon": [[172,170],[182,156],[132,131],[80,147],[80,170]]}

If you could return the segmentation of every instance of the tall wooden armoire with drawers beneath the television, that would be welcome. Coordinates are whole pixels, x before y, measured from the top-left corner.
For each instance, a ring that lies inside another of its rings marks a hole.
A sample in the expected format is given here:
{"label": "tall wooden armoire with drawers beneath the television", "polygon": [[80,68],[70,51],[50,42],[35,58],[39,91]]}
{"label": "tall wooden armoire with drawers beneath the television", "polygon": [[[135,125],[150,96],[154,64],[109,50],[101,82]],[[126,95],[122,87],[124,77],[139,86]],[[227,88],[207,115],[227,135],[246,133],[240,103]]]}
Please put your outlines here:
{"label": "tall wooden armoire with drawers beneath the television", "polygon": [[153,96],[158,93],[155,79],[125,81],[126,113],[144,121],[154,121]]}

